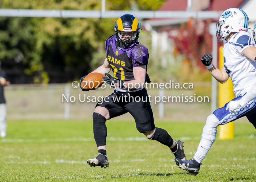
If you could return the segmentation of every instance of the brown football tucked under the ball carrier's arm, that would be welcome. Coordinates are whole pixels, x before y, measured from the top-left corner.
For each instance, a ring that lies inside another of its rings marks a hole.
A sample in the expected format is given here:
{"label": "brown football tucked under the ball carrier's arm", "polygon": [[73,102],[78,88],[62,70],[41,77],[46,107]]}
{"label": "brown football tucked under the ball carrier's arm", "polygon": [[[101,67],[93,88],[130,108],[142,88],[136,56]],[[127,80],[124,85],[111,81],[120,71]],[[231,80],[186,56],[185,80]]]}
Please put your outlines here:
{"label": "brown football tucked under the ball carrier's arm", "polygon": [[81,87],[86,90],[96,90],[104,83],[102,77],[105,77],[105,75],[101,73],[91,73],[83,79]]}

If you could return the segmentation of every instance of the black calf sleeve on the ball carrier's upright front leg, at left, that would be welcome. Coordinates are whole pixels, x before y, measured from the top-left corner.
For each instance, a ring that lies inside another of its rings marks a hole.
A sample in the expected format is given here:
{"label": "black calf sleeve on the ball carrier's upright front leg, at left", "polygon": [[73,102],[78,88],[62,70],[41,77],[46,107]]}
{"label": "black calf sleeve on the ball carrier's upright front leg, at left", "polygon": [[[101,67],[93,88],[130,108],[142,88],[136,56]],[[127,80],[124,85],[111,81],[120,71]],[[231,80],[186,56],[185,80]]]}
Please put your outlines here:
{"label": "black calf sleeve on the ball carrier's upright front leg, at left", "polygon": [[101,114],[93,113],[93,135],[97,147],[106,145],[108,131],[106,127],[106,118]]}

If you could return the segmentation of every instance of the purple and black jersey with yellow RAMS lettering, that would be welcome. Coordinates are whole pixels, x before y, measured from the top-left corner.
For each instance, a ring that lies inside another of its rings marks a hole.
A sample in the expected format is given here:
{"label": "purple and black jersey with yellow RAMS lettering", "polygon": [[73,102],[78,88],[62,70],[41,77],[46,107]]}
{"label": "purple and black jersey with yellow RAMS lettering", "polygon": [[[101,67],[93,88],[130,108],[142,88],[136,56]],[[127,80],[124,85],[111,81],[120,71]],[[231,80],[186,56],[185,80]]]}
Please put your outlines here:
{"label": "purple and black jersey with yellow RAMS lettering", "polygon": [[[124,81],[134,80],[133,67],[148,63],[148,49],[139,42],[133,43],[129,48],[116,48],[116,35],[110,36],[106,42],[106,56],[112,66],[114,78]],[[146,74],[146,81],[148,75]],[[147,81],[148,82],[148,81]]]}

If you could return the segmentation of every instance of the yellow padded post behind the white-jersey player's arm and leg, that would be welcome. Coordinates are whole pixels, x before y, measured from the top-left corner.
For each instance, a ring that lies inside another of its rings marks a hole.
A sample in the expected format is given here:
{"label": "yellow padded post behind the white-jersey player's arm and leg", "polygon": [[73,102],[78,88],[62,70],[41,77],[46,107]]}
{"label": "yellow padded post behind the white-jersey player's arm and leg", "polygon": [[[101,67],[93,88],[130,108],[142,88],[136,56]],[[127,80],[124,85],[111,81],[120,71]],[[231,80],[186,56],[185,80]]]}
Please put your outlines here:
{"label": "yellow padded post behind the white-jersey player's arm and leg", "polygon": [[[224,66],[223,46],[219,48],[219,69]],[[233,83],[229,78],[226,83],[219,84],[219,107],[234,99]],[[234,122],[219,126],[219,139],[226,140],[234,137]]]}

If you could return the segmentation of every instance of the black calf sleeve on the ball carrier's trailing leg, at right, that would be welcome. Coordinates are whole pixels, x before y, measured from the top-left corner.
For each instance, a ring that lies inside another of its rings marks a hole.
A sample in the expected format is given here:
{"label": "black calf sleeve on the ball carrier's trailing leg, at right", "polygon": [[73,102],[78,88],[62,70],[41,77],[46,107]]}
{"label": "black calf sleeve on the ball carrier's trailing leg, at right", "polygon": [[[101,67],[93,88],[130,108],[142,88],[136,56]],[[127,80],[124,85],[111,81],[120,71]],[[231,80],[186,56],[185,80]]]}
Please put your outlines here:
{"label": "black calf sleeve on the ball carrier's trailing leg, at right", "polygon": [[150,140],[156,140],[156,141],[158,141],[158,142],[160,142],[163,145],[166,145],[168,147],[173,145],[172,137],[168,134],[167,131],[165,131],[162,128],[155,127],[155,132],[154,132],[153,136],[149,139]]}

